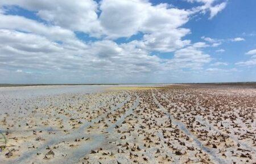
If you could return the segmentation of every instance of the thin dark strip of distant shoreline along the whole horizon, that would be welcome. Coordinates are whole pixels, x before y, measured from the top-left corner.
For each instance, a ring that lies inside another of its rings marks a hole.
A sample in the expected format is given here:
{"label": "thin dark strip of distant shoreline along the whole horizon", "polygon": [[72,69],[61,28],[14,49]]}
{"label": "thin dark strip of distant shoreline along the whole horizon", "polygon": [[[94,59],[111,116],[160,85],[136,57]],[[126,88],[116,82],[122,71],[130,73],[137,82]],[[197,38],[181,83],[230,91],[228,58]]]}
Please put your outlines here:
{"label": "thin dark strip of distant shoreline along the whole horizon", "polygon": [[224,83],[130,83],[130,84],[0,84],[0,87],[33,87],[33,86],[57,86],[57,85],[256,85],[256,81],[250,82],[224,82]]}

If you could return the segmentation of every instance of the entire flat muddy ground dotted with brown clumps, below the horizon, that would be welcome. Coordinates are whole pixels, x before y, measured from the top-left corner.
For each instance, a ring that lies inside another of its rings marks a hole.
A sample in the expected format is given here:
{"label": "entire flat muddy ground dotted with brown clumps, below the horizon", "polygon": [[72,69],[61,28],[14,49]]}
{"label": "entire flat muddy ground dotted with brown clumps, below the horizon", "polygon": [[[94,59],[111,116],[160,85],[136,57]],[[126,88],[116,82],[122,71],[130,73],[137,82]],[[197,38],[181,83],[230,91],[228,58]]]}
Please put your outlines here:
{"label": "entire flat muddy ground dotted with brown clumps, below the horizon", "polygon": [[255,85],[0,88],[0,163],[255,163]]}

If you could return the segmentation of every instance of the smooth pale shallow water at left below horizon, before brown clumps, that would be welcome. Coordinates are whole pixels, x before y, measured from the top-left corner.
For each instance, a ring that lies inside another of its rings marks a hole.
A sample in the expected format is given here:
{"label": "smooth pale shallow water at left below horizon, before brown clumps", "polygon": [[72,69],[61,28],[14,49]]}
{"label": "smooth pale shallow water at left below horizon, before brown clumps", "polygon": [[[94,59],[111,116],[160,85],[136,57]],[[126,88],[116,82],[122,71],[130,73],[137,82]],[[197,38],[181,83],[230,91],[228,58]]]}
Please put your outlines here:
{"label": "smooth pale shallow water at left below horizon, before brown clumps", "polygon": [[[35,107],[46,107],[52,102],[47,98],[61,94],[90,94],[104,92],[114,85],[63,85],[33,87],[1,87],[0,114],[10,113],[19,109],[29,112]],[[34,103],[37,101],[37,103]],[[62,103],[56,101],[56,103]]]}

